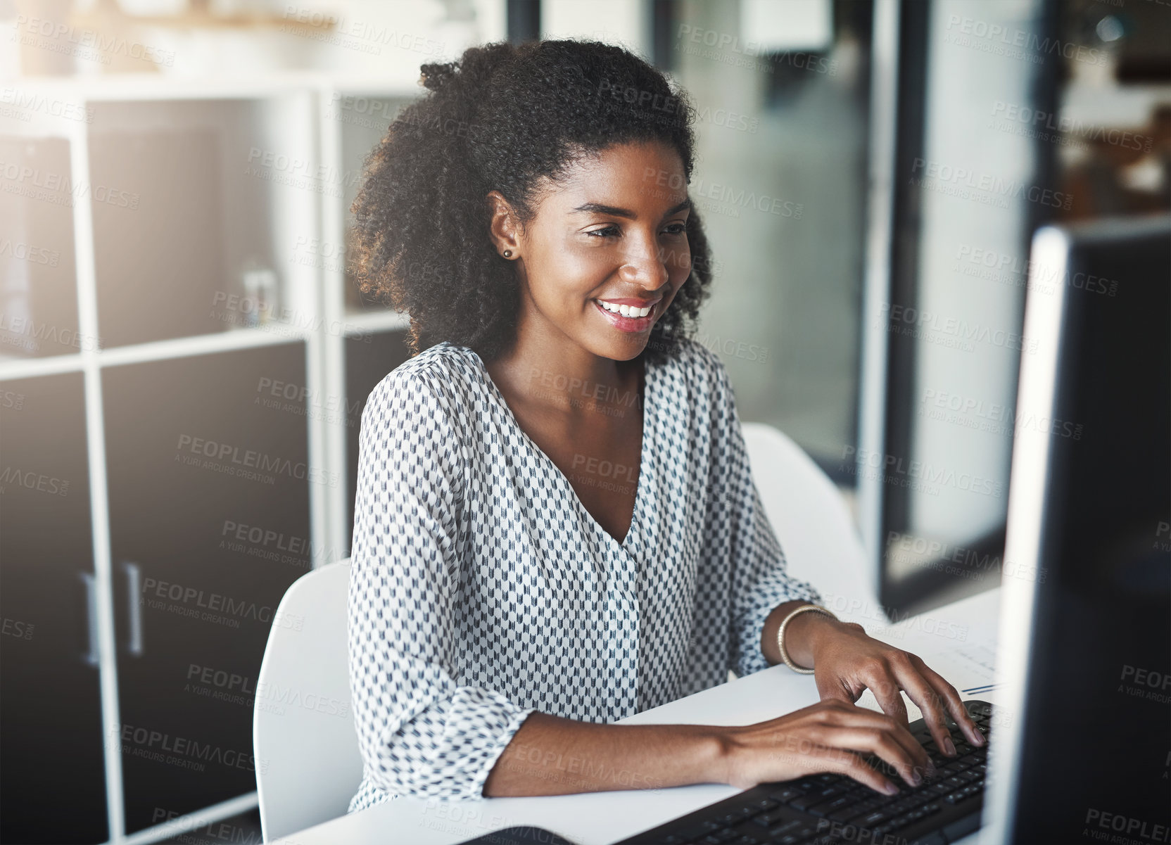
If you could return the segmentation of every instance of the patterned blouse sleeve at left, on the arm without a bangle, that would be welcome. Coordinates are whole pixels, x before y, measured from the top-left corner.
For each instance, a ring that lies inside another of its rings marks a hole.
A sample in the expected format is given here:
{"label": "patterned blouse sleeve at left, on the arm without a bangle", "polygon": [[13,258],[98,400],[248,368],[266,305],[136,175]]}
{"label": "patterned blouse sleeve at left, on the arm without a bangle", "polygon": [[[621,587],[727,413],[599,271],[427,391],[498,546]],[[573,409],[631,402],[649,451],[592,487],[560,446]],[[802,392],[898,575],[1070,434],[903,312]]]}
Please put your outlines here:
{"label": "patterned blouse sleeve at left, on the arm without a bangle", "polygon": [[391,795],[478,798],[534,708],[453,679],[464,478],[443,397],[425,371],[398,370],[362,412],[350,692],[370,782]]}

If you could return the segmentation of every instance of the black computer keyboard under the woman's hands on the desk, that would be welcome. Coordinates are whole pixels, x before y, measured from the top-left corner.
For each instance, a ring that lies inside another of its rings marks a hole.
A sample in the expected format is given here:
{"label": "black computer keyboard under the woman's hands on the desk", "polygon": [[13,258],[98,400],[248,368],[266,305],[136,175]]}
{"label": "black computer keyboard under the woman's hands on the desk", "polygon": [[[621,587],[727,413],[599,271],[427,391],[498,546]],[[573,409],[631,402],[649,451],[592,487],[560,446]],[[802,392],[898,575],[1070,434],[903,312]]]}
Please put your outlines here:
{"label": "black computer keyboard under the woman's hands on the desk", "polygon": [[[965,701],[964,707],[989,736],[992,705]],[[956,722],[946,722],[954,757],[936,747],[922,719],[910,724],[936,765],[934,777],[918,786],[909,786],[884,761],[865,758],[899,786],[897,795],[875,792],[844,775],[807,775],[759,784],[616,845],[947,845],[980,826],[988,744],[970,744]]]}

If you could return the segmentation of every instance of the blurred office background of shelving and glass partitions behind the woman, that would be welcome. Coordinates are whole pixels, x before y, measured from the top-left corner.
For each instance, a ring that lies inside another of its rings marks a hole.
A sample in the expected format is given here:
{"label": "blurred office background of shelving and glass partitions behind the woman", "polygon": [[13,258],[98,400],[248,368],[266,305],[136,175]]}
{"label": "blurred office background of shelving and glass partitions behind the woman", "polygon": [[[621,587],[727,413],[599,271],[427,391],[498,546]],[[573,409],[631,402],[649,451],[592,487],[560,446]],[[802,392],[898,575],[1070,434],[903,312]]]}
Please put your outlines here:
{"label": "blurred office background of shelving and glass partitions behind the woman", "polygon": [[1014,411],[1028,245],[1171,208],[1166,2],[0,0],[0,841],[260,841],[253,707],[314,706],[256,688],[274,609],[348,556],[408,355],[347,265],[363,156],[422,63],[534,37],[690,92],[698,339],[883,611],[999,582],[1013,433],[1080,437]]}

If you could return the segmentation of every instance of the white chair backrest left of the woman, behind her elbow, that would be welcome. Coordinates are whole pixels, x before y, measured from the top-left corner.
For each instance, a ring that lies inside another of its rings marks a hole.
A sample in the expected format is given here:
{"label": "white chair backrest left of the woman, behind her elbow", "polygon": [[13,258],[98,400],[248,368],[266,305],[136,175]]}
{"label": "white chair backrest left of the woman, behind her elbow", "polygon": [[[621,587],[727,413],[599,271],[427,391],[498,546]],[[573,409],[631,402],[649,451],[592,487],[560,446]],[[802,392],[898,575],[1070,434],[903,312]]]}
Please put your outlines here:
{"label": "white chair backrest left of the woman, behind her elbow", "polygon": [[362,781],[345,645],[349,578],[349,561],[301,576],[273,617],[252,722],[266,843],[345,815]]}

